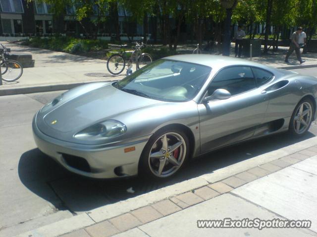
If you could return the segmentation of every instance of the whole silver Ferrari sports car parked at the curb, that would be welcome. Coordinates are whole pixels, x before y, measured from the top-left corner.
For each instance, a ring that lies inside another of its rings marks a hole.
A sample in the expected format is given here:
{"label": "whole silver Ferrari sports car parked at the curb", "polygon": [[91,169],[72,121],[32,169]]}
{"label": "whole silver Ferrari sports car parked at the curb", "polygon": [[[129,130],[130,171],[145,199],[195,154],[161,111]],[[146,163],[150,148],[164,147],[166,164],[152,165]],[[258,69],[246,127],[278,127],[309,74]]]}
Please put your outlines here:
{"label": "whole silver Ferrari sports car parked at the curb", "polygon": [[167,178],[189,158],[315,119],[317,79],[211,55],[166,57],[115,82],[89,83],[34,117],[36,144],[94,178]]}

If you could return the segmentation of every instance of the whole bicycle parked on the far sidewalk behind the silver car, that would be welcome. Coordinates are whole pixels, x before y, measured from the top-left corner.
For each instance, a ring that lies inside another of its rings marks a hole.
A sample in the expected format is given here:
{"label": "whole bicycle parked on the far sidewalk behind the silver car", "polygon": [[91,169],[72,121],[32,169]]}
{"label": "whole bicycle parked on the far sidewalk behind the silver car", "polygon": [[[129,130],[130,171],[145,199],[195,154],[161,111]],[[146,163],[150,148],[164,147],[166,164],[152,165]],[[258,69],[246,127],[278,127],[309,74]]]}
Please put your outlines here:
{"label": "whole bicycle parked on the far sidewalk behind the silver car", "polygon": [[[143,42],[140,44],[135,42],[135,49],[126,51],[127,44],[109,44],[112,48],[120,48],[121,53],[112,54],[107,60],[107,69],[112,75],[119,75],[123,72],[125,66],[127,66],[127,75],[132,74],[132,65],[136,64],[136,69],[150,64],[153,62],[153,59],[150,54],[142,53],[141,48],[145,47],[146,44]],[[130,58],[128,58],[127,53],[131,53]]]}

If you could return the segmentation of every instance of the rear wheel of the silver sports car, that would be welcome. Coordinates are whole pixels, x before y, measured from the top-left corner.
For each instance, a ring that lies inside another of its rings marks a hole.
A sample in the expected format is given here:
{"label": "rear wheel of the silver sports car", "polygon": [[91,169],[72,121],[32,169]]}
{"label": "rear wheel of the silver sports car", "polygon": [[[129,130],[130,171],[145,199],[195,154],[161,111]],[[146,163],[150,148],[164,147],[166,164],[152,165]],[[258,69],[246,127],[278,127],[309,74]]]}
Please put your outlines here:
{"label": "rear wheel of the silver sports car", "polygon": [[[302,109],[302,115],[299,116],[300,113],[300,107],[303,105]],[[308,112],[308,114],[304,115],[304,111],[308,111],[311,109],[311,112]],[[295,110],[292,114],[292,117],[289,122],[289,133],[294,136],[303,136],[310,128],[312,121],[314,119],[315,114],[315,107],[314,103],[310,98],[304,98],[302,99],[297,106],[295,107]],[[302,124],[302,121],[305,121],[305,124]],[[299,123],[299,129],[298,124]]]}

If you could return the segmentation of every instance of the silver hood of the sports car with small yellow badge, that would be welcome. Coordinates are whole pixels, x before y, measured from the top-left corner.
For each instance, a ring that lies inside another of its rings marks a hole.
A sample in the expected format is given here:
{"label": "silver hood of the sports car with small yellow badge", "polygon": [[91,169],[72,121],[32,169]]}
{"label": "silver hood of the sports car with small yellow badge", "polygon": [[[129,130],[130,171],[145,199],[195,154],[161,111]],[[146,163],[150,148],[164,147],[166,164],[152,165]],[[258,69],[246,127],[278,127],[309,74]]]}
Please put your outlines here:
{"label": "silver hood of the sports car with small yellow badge", "polygon": [[[67,92],[66,92],[67,93]],[[67,97],[67,96],[65,96]],[[73,136],[82,129],[130,110],[162,103],[121,91],[111,84],[93,88],[57,104],[48,104],[37,115],[39,129],[52,137]],[[66,135],[68,134],[68,135]]]}

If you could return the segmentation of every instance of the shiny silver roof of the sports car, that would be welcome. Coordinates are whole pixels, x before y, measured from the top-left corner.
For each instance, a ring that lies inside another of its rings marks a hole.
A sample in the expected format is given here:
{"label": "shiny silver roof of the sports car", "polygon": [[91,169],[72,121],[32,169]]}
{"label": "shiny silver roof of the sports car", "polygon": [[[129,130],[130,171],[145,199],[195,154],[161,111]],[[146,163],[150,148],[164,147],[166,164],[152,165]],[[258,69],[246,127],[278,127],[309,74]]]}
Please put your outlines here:
{"label": "shiny silver roof of the sports car", "polygon": [[260,63],[256,63],[246,59],[220,56],[220,55],[180,54],[180,55],[165,57],[164,59],[201,64],[201,65],[209,66],[212,69],[220,69],[220,68],[223,68],[226,66],[232,66],[232,65],[246,65],[246,66],[260,67],[260,68],[272,71],[272,68],[267,67]]}

